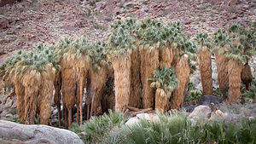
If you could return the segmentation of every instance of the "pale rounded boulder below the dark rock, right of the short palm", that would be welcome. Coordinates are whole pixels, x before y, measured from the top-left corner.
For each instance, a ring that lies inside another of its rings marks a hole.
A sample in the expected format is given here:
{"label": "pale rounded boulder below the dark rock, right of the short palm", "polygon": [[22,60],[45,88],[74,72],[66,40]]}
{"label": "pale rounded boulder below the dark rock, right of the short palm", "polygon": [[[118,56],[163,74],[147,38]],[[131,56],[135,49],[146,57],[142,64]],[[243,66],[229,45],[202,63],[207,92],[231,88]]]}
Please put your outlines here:
{"label": "pale rounded boulder below the dark rock, right of the short palm", "polygon": [[198,106],[195,107],[195,110],[189,114],[189,118],[194,119],[195,121],[205,121],[211,117],[212,110],[207,106]]}

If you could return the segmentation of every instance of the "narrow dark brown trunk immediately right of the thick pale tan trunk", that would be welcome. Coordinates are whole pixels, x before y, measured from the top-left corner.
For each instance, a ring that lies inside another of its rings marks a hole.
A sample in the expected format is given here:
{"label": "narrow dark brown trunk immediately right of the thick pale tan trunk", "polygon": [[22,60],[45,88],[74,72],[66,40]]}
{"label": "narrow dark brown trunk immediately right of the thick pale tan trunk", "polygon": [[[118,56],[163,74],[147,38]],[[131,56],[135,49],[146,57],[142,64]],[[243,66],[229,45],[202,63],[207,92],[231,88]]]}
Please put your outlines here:
{"label": "narrow dark brown trunk immediately right of the thick pale tan trunk", "polygon": [[142,84],[140,81],[140,59],[138,49],[131,53],[131,95],[129,106],[142,107]]}

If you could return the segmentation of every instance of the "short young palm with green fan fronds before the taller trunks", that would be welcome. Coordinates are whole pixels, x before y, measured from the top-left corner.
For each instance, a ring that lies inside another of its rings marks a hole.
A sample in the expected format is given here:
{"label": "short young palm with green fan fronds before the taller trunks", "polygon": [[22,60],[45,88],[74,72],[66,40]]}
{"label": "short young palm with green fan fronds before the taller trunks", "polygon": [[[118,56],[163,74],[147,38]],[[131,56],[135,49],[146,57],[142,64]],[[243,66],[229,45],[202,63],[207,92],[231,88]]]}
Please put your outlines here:
{"label": "short young palm with green fan fronds before the taller trunks", "polygon": [[169,109],[169,98],[174,89],[178,87],[178,79],[176,78],[173,67],[166,68],[162,66],[160,70],[153,72],[153,78],[150,86],[156,89],[155,92],[155,108],[163,112]]}

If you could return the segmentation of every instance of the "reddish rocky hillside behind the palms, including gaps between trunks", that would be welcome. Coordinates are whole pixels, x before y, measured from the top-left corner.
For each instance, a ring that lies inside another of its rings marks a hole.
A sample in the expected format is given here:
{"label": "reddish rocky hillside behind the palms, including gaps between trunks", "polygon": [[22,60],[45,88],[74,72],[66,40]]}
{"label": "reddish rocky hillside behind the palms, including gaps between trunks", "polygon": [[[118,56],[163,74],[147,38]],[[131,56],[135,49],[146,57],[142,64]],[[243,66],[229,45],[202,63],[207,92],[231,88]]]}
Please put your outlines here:
{"label": "reddish rocky hillside behind the palms, including gaps between trunks", "polygon": [[[36,43],[54,44],[63,37],[106,39],[113,21],[127,17],[181,21],[193,37],[198,32],[212,34],[232,23],[247,26],[256,20],[255,15],[255,0],[22,0],[0,7],[0,63],[13,51],[32,49]],[[212,60],[213,86],[218,87],[214,57]],[[255,74],[255,57],[249,65]],[[201,89],[199,71],[190,81]],[[15,99],[5,96],[0,100],[2,118],[16,114]]]}

